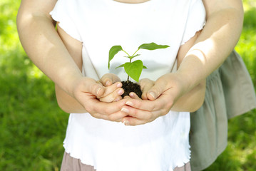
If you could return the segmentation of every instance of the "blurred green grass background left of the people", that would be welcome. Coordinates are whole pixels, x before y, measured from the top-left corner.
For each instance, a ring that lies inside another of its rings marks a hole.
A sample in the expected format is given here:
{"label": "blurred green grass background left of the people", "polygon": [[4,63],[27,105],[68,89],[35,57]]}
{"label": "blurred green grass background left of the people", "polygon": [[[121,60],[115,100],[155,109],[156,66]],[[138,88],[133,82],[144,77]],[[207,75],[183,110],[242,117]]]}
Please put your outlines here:
{"label": "blurred green grass background left of the people", "polygon": [[19,43],[19,1],[0,1],[0,170],[59,170],[68,115]]}

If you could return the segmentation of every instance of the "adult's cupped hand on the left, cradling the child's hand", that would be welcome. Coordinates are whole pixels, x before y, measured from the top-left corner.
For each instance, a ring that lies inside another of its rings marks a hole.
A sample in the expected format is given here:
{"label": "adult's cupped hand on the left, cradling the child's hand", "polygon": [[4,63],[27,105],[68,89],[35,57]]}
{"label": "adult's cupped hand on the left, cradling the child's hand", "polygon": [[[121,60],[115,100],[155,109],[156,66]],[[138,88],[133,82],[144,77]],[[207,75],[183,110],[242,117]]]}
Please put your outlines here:
{"label": "adult's cupped hand on the left, cradling the child's hand", "polygon": [[123,105],[126,105],[126,100],[122,99],[112,103],[99,100],[99,97],[103,97],[109,91],[108,88],[103,86],[106,83],[104,81],[99,83],[93,78],[83,77],[73,84],[75,85],[73,87],[73,96],[94,118],[121,122],[128,115],[121,111]]}

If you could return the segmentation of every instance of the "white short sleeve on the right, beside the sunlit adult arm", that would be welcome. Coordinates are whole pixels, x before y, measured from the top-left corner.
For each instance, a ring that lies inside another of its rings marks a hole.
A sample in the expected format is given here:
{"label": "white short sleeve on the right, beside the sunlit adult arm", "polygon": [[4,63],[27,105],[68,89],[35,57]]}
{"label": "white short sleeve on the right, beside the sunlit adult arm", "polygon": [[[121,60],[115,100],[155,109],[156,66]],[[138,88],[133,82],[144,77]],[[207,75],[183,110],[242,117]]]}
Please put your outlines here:
{"label": "white short sleeve on the right, beside the sunlit adult arm", "polygon": [[181,44],[189,41],[190,38],[195,36],[197,31],[203,29],[203,26],[205,26],[205,6],[201,0],[194,0],[188,11],[187,22]]}

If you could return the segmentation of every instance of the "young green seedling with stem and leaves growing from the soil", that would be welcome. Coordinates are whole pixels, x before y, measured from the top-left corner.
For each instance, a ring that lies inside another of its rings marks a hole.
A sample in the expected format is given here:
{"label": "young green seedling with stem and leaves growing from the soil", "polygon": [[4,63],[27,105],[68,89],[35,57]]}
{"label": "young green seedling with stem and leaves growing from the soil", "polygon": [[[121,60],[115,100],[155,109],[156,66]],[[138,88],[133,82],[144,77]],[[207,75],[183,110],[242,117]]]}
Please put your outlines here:
{"label": "young green seedling with stem and leaves growing from the soil", "polygon": [[114,58],[114,56],[116,56],[116,54],[119,51],[123,51],[124,53],[126,53],[128,56],[124,56],[126,58],[129,58],[130,61],[127,63],[122,64],[121,66],[118,66],[116,68],[121,68],[123,67],[128,75],[127,81],[129,81],[129,77],[133,78],[133,80],[135,81],[139,81],[141,72],[143,70],[143,68],[147,68],[146,66],[143,66],[143,61],[141,60],[137,60],[137,61],[133,61],[132,59],[140,56],[140,54],[137,54],[137,52],[140,50],[140,48],[146,49],[146,50],[155,50],[155,49],[159,49],[159,48],[168,48],[169,46],[167,45],[158,45],[156,43],[145,43],[142,44],[138,47],[137,51],[135,51],[135,53],[133,53],[132,56],[130,56],[126,51],[123,50],[123,48],[121,46],[113,46],[110,51],[109,51],[109,56],[108,56],[108,69],[110,67],[110,62],[111,60]]}

